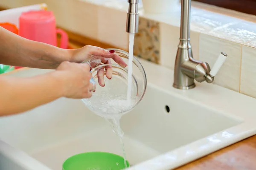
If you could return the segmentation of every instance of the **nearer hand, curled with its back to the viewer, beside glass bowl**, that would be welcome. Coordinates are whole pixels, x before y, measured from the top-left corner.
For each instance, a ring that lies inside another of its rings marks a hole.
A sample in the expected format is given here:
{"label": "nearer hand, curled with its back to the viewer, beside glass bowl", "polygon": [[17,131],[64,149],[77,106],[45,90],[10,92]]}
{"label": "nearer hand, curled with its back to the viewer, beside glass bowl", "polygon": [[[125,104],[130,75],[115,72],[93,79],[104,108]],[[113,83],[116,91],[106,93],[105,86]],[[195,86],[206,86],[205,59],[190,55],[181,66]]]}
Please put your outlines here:
{"label": "nearer hand, curled with its back to the viewer, beside glass bowl", "polygon": [[90,98],[95,87],[90,83],[90,65],[62,62],[56,72],[64,85],[64,97],[73,99]]}

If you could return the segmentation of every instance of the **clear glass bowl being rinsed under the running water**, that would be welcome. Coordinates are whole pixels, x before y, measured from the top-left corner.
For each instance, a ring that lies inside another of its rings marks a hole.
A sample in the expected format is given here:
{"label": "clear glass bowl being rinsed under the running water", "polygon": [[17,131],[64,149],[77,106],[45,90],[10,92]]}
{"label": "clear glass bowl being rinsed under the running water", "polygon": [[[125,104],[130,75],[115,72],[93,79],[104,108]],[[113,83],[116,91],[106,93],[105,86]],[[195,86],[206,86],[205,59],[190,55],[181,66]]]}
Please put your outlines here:
{"label": "clear glass bowl being rinsed under the running water", "polygon": [[[128,65],[128,52],[112,48],[107,50],[115,50],[115,54],[122,57]],[[95,62],[97,61],[95,58],[90,58],[84,62],[89,63],[90,65],[95,65]],[[143,66],[136,57],[133,57],[131,103],[128,103],[128,66],[122,68],[111,59],[111,66],[113,69],[112,78],[108,79],[104,73],[105,86],[101,87],[98,83],[97,72],[105,66],[109,65],[100,63],[92,68],[91,72],[96,83],[96,91],[93,92],[91,98],[82,99],[82,101],[97,115],[107,119],[113,119],[131,111],[143,99],[147,86],[147,79]]]}

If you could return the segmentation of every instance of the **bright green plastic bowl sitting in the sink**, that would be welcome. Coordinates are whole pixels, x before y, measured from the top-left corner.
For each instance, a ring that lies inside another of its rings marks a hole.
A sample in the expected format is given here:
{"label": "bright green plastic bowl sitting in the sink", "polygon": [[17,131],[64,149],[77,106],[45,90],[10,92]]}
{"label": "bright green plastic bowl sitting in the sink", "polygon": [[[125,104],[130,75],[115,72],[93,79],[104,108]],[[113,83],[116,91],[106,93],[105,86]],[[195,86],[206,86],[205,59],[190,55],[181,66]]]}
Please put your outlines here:
{"label": "bright green plastic bowl sitting in the sink", "polygon": [[[130,167],[127,161],[127,167]],[[87,152],[71,156],[62,165],[62,170],[122,170],[122,156],[107,152]]]}

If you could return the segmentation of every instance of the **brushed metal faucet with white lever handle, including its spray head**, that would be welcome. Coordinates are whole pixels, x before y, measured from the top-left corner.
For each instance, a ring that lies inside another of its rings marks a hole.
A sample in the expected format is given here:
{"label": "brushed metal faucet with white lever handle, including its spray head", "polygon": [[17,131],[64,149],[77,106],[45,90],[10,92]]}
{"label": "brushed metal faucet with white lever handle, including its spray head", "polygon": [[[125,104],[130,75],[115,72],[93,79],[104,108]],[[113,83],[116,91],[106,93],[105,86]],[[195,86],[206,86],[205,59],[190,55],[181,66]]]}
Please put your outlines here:
{"label": "brushed metal faucet with white lever handle, including its spray head", "polygon": [[[180,43],[175,59],[173,87],[188,90],[195,87],[197,82],[212,83],[214,77],[227,59],[227,54],[221,52],[212,69],[207,62],[193,59],[192,47],[190,44],[190,11],[191,0],[181,1],[180,17]],[[138,32],[138,2],[139,0],[128,0],[129,9],[127,12],[126,32]]]}

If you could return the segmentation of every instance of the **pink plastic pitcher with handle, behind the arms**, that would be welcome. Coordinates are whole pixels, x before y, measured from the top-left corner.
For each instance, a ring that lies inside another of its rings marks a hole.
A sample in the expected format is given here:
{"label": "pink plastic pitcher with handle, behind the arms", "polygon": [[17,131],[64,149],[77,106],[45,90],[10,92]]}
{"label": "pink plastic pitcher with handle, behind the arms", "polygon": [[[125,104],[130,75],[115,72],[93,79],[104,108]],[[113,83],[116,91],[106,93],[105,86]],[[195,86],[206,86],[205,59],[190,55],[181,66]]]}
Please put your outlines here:
{"label": "pink plastic pitcher with handle, behind the arms", "polygon": [[19,17],[19,23],[19,35],[21,37],[57,46],[57,34],[61,34],[60,48],[67,49],[67,33],[56,28],[52,11],[23,12]]}

